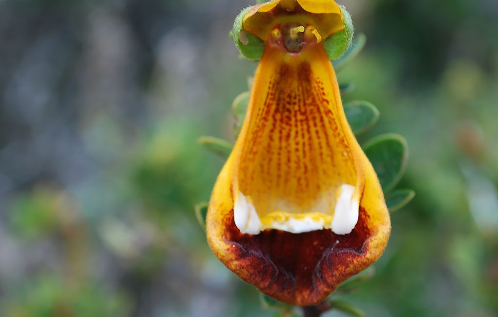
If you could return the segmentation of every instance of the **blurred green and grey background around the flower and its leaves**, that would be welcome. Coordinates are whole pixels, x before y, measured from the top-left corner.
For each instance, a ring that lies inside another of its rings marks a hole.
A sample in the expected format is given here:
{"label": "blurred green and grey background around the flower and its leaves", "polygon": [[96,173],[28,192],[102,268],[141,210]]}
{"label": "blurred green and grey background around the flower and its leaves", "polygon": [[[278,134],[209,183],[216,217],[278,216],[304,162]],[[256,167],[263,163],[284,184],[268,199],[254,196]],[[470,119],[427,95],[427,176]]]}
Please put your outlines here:
{"label": "blurred green and grey background around the flower and its leaves", "polygon": [[[256,64],[249,0],[0,0],[0,316],[273,316],[193,206]],[[345,101],[410,146],[368,316],[498,316],[498,2],[342,0],[366,49]],[[330,313],[326,316],[341,316]]]}

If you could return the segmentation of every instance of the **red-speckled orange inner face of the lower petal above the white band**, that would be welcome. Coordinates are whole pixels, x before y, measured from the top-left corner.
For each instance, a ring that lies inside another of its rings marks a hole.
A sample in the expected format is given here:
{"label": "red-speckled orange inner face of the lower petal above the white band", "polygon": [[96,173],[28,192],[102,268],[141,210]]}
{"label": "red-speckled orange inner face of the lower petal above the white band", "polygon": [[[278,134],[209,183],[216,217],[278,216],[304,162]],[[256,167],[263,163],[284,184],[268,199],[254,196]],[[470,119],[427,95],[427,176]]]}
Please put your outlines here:
{"label": "red-speckled orange inner face of the lower petal above the white band", "polygon": [[330,214],[341,185],[363,186],[333,96],[306,61],[275,65],[254,105],[237,175],[259,216]]}

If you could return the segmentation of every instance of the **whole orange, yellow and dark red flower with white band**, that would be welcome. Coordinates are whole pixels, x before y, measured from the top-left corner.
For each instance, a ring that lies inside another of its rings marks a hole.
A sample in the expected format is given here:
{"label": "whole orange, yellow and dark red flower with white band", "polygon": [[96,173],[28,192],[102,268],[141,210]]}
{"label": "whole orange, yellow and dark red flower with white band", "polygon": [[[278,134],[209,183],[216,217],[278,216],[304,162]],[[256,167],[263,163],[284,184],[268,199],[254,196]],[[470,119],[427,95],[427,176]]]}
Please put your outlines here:
{"label": "whole orange, yellow and dark red flower with white band", "polygon": [[333,0],[274,0],[244,10],[233,35],[262,51],[207,238],[230,270],[292,305],[324,300],[379,258],[390,233],[329,60],[351,41],[348,19]]}

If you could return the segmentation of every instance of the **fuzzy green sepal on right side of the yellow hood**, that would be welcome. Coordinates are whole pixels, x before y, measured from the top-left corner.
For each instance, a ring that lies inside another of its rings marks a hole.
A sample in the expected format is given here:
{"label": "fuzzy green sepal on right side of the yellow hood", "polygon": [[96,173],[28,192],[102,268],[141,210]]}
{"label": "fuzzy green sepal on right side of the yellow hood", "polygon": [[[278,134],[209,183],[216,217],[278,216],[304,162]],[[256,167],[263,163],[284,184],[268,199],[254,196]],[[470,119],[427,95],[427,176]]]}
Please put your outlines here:
{"label": "fuzzy green sepal on right side of the yellow hood", "polygon": [[323,42],[325,51],[327,52],[329,59],[332,60],[338,59],[346,53],[348,48],[351,46],[353,35],[355,33],[355,27],[353,25],[351,14],[349,14],[346,7],[343,5],[340,5],[339,7],[341,8],[341,12],[343,14],[345,29],[331,35]]}

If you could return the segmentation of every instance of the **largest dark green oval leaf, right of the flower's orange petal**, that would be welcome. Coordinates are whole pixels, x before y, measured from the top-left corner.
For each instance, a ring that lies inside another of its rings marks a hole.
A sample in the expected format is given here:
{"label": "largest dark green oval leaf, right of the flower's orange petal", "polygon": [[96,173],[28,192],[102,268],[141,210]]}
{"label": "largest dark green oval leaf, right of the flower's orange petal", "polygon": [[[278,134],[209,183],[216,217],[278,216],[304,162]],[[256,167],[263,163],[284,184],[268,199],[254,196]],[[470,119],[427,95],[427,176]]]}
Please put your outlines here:
{"label": "largest dark green oval leaf, right of the flower's orange petal", "polygon": [[382,134],[363,145],[384,193],[392,190],[403,176],[408,162],[406,139],[398,134]]}

